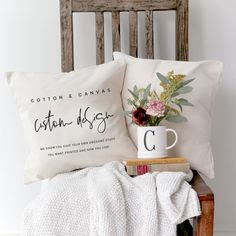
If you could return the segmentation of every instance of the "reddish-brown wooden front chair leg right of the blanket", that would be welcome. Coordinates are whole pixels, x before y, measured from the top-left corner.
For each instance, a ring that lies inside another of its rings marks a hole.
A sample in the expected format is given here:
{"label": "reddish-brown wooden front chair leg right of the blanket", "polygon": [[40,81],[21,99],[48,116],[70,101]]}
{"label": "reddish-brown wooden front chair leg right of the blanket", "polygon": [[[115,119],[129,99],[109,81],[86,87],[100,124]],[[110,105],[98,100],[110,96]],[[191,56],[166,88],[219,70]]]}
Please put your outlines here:
{"label": "reddish-brown wooden front chair leg right of the blanket", "polygon": [[201,203],[202,214],[194,218],[194,236],[213,236],[214,228],[214,199],[203,200]]}

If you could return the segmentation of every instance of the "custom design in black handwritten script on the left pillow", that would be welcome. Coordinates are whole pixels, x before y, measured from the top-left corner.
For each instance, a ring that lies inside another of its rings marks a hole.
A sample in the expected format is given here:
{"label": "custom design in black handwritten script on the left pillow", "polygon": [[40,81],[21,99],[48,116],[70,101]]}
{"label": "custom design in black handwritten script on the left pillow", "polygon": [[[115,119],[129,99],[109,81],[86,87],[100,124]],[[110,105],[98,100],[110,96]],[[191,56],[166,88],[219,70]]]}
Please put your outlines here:
{"label": "custom design in black handwritten script on the left pillow", "polygon": [[84,110],[82,108],[79,109],[79,114],[75,118],[75,121],[65,121],[62,117],[57,118],[57,116],[49,110],[45,117],[37,118],[34,121],[34,130],[36,133],[40,131],[52,132],[55,128],[63,128],[75,123],[81,128],[87,125],[89,129],[96,128],[98,133],[104,133],[107,128],[107,121],[113,116],[114,114],[109,114],[108,112],[95,113],[92,111],[91,107],[86,107]]}

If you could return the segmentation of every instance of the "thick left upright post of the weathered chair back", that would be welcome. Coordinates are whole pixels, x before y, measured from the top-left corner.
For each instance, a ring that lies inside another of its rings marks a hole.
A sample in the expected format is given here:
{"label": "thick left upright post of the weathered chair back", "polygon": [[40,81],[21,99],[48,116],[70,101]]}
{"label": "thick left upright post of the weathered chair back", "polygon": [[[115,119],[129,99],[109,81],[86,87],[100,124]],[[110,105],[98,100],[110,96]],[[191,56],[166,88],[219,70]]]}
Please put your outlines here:
{"label": "thick left upright post of the weathered chair back", "polygon": [[74,69],[72,0],[60,0],[61,17],[61,68],[63,72]]}

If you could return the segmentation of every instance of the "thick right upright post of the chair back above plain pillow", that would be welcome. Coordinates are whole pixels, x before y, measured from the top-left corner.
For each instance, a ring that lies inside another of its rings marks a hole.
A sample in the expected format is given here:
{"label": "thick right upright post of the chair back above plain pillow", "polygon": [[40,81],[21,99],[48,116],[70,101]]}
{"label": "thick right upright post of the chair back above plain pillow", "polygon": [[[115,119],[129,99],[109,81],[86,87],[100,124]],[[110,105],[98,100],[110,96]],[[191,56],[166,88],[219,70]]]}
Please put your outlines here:
{"label": "thick right upright post of the chair back above plain pillow", "polygon": [[177,0],[176,60],[188,60],[188,0]]}

